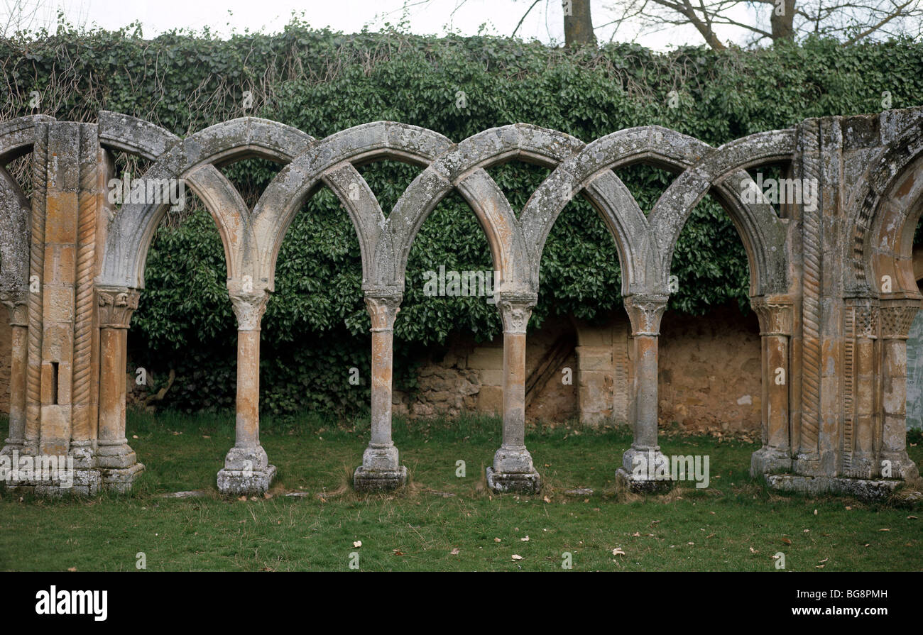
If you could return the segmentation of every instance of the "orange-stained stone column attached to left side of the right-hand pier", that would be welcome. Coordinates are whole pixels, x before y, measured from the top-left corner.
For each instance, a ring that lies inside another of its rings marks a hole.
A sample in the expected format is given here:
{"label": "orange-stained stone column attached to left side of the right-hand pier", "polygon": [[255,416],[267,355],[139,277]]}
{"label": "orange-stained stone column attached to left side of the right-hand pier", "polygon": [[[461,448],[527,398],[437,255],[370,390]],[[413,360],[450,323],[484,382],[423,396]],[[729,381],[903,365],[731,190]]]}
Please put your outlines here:
{"label": "orange-stained stone column attached to left side of the right-hand pier", "polygon": [[762,448],[750,460],[750,474],[756,476],[792,467],[788,425],[792,303],[787,298],[755,297],[750,304],[760,318],[762,345]]}

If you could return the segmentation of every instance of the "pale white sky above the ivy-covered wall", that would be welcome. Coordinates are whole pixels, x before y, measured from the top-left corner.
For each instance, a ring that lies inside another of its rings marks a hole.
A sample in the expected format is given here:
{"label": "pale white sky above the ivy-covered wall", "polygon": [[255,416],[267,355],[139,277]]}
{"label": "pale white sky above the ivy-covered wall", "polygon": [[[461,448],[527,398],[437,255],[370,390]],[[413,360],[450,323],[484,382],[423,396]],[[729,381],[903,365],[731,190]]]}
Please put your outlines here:
{"label": "pale white sky above the ivy-covered wall", "polygon": [[[263,30],[276,32],[291,19],[293,12],[302,15],[311,27],[330,27],[353,33],[366,25],[380,29],[385,22],[402,21],[403,7],[410,30],[417,34],[442,35],[446,30],[475,35],[484,25],[485,32],[510,35],[533,0],[0,0],[0,20],[6,23],[10,6],[28,6],[36,26],[54,27],[58,10],[68,21],[85,26],[98,25],[113,30],[140,21],[145,37],[165,30],[188,27],[227,36],[231,32]],[[593,0],[593,23],[597,27],[614,17],[607,8],[612,0]],[[37,9],[37,10],[36,10]],[[749,21],[746,16],[742,17]],[[560,43],[564,39],[560,0],[539,0],[517,35],[524,39]],[[724,37],[734,37],[727,32]],[[596,30],[596,37],[607,42],[612,27]],[[616,41],[637,41],[658,50],[675,45],[701,44],[701,37],[691,27],[636,37],[635,31],[619,32]]]}

